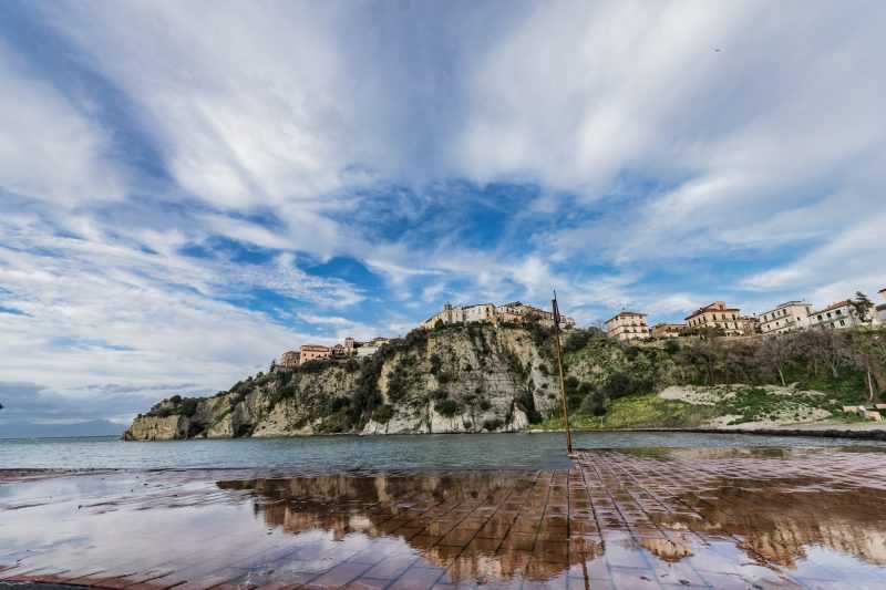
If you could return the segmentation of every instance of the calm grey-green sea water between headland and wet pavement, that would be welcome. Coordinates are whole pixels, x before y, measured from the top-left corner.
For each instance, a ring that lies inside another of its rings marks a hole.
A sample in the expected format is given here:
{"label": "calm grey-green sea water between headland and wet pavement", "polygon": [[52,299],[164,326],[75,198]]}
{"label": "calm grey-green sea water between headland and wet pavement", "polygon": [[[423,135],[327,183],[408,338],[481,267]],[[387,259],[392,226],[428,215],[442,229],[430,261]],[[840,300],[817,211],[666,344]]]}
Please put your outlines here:
{"label": "calm grey-green sea water between headland and wet pavement", "polygon": [[[849,439],[696,433],[577,433],[581,448],[878,446]],[[303,472],[554,468],[565,437],[544,434],[317,436],[124,443],[113,437],[0,439],[0,468],[238,468]]]}

